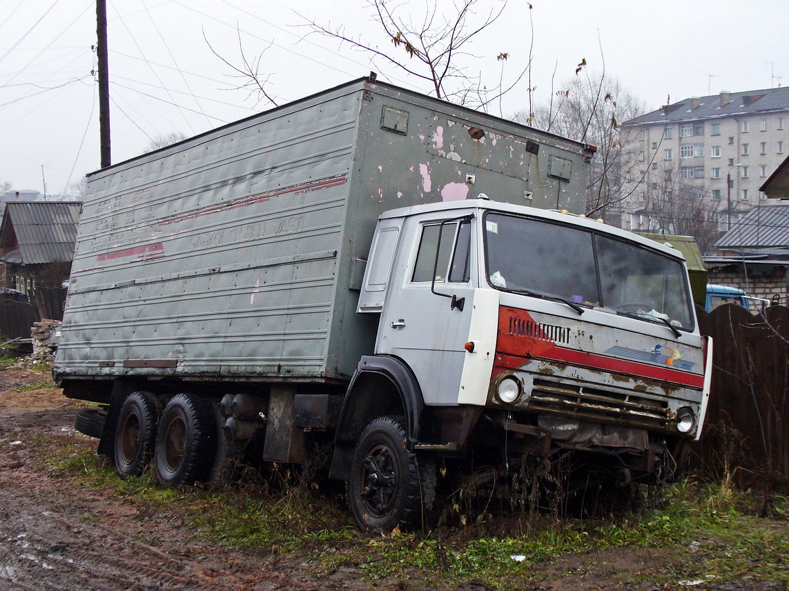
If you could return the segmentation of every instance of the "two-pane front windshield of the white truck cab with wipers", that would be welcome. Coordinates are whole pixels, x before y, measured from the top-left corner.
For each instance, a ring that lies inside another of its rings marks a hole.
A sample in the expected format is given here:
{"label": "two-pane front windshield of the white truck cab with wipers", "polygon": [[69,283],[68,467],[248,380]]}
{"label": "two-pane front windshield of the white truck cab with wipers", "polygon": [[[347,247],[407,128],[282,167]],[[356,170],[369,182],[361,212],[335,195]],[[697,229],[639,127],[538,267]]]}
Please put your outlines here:
{"label": "two-pane front windshield of the white truck cab with wipers", "polygon": [[694,329],[685,267],[675,258],[589,230],[508,214],[488,213],[484,232],[494,288]]}

